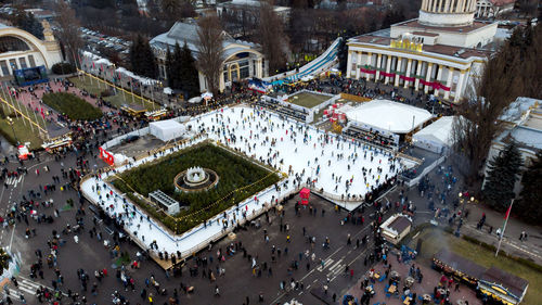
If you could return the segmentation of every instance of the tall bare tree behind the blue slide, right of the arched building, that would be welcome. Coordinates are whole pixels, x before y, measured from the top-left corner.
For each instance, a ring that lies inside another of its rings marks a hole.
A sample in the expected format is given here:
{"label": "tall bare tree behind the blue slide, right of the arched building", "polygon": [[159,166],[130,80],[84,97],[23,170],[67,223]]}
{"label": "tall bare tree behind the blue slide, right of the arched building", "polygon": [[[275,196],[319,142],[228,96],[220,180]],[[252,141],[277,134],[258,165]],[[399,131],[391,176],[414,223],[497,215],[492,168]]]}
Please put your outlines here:
{"label": "tall bare tree behind the blue slide, right of the arched building", "polygon": [[286,36],[281,17],[274,12],[272,0],[260,2],[260,24],[258,38],[263,55],[269,61],[269,69],[276,73],[286,63]]}

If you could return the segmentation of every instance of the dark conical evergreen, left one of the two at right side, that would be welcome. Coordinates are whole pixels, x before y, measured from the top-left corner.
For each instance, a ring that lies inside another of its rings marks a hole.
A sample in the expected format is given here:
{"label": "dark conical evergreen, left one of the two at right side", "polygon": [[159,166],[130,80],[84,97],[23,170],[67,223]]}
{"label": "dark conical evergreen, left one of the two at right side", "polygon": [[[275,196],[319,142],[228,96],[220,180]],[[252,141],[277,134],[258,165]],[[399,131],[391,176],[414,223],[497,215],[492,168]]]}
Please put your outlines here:
{"label": "dark conical evergreen, left one of the two at right side", "polygon": [[489,162],[483,196],[496,211],[505,211],[515,196],[514,186],[521,165],[521,154],[514,141]]}

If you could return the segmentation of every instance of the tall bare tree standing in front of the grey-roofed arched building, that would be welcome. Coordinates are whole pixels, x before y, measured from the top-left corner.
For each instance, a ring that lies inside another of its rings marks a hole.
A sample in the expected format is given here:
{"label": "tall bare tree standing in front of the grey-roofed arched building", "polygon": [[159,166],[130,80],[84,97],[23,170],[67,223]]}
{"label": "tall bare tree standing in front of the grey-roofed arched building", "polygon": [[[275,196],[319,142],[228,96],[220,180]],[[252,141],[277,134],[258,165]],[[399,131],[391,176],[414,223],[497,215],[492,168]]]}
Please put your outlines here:
{"label": "tall bare tree standing in front of the grey-roofed arched building", "polygon": [[220,73],[223,66],[223,31],[216,15],[202,17],[197,23],[199,38],[197,66],[207,79],[207,88],[214,94],[219,91]]}

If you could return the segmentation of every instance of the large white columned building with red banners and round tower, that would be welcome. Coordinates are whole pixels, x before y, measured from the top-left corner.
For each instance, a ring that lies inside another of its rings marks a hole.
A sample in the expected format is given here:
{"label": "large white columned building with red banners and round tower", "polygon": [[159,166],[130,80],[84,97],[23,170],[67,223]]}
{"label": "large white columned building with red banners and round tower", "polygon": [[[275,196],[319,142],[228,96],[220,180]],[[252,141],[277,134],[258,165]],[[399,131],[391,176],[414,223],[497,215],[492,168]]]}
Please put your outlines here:
{"label": "large white columned building with red banners and round tower", "polygon": [[496,33],[498,24],[476,22],[475,11],[476,0],[423,0],[418,18],[348,40],[347,77],[460,102]]}

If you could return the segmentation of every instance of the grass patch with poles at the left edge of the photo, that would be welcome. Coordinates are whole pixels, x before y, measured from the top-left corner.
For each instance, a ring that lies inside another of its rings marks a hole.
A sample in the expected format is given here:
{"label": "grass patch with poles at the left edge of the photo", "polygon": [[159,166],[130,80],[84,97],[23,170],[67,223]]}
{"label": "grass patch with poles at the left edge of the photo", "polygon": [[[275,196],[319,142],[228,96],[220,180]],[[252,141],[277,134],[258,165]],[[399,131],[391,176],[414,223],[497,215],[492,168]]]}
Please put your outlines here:
{"label": "grass patch with poles at the left edge of the photo", "polygon": [[[30,150],[40,149],[43,140],[41,140],[41,138],[39,137],[37,127],[34,126],[33,131],[33,129],[30,128],[30,123],[28,123],[28,120],[22,118],[21,116],[12,117],[12,119],[13,129],[11,128],[8,118],[0,118],[0,132],[2,134],[2,136],[12,144],[16,144],[17,141],[21,143],[30,142]],[[13,135],[13,131],[15,131],[15,135]]]}

